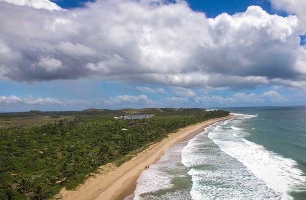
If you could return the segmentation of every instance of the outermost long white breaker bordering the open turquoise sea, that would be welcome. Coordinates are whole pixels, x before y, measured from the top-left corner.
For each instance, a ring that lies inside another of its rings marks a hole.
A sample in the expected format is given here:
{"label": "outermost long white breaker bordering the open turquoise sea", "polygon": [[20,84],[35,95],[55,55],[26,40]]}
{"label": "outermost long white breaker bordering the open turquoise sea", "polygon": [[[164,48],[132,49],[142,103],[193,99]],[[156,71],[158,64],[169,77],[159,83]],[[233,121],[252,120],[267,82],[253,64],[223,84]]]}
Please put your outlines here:
{"label": "outermost long white breaker bordering the open turquoise sea", "polygon": [[239,115],[227,125],[217,126],[208,137],[226,154],[235,158],[251,171],[258,180],[274,191],[280,199],[292,199],[288,192],[306,183],[303,171],[296,161],[268,151],[264,146],[246,140],[248,135],[237,128],[241,120],[250,119],[249,115]]}

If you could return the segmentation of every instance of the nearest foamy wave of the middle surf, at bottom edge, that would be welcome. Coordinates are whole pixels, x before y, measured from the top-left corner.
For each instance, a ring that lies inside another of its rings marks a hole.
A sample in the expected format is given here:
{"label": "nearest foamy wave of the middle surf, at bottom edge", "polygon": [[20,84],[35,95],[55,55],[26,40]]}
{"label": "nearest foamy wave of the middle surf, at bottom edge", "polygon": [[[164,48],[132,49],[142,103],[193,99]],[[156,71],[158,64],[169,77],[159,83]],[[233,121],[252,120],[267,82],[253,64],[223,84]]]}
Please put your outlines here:
{"label": "nearest foamy wave of the middle surf, at bottom edge", "polygon": [[243,167],[218,168],[218,170],[191,169],[192,200],[279,200],[279,194]]}

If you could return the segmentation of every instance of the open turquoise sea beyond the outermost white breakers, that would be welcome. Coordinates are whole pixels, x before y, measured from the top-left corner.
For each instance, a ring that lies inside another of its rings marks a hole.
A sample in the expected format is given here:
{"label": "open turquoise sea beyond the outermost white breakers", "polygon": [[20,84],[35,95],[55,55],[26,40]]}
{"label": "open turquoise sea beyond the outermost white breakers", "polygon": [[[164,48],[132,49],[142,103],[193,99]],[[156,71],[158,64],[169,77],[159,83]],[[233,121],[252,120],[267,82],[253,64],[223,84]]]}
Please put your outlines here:
{"label": "open turquoise sea beyond the outermost white breakers", "polygon": [[[232,108],[231,112],[259,115],[242,123],[248,140],[299,163],[306,173],[306,106]],[[258,127],[250,130],[250,127]]]}

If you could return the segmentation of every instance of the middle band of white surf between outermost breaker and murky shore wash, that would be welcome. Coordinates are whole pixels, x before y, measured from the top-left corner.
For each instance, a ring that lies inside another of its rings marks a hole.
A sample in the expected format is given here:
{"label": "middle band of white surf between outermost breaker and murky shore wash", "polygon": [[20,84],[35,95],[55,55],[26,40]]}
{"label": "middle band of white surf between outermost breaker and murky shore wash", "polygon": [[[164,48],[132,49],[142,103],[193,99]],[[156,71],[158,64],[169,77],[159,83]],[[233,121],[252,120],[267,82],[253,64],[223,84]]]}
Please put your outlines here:
{"label": "middle band of white surf between outermost breaker and murky shore wash", "polygon": [[[206,131],[224,131],[212,125]],[[229,129],[228,129],[229,130]],[[251,171],[199,134],[182,151],[182,163],[191,168],[192,200],[280,199]]]}

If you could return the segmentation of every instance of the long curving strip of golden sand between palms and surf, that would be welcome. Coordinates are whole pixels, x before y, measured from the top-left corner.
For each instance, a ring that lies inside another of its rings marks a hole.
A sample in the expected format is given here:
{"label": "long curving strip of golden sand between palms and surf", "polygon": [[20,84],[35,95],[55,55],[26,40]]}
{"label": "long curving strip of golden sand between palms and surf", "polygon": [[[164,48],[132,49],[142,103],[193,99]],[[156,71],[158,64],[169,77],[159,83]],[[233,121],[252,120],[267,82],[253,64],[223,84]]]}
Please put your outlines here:
{"label": "long curving strip of golden sand between palms and surf", "polygon": [[100,167],[100,174],[88,178],[84,184],[74,191],[62,189],[56,198],[62,200],[123,200],[134,193],[136,181],[141,172],[145,170],[145,166],[150,166],[158,161],[164,151],[174,143],[187,141],[196,134],[203,132],[205,127],[234,117],[234,115],[230,115],[228,117],[207,120],[191,125],[176,133],[171,133],[167,138],[151,145],[120,167],[115,167],[114,164]]}

